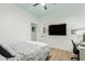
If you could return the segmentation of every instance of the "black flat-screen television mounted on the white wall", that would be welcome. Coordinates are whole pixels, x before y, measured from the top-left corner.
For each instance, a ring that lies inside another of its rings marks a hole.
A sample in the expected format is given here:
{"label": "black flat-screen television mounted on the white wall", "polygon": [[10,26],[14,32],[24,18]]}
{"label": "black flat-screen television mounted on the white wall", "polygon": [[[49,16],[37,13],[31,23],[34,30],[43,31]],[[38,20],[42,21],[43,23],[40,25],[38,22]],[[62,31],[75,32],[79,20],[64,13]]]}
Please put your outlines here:
{"label": "black flat-screen television mounted on the white wall", "polygon": [[67,35],[67,24],[49,25],[48,35],[66,36]]}

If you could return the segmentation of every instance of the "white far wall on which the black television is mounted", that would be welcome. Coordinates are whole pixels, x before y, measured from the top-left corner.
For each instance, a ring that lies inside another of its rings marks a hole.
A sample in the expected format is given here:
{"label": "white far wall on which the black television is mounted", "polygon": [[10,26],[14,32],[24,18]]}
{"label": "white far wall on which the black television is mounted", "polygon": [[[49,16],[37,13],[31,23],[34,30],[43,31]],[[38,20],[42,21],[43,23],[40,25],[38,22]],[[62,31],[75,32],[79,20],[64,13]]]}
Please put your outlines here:
{"label": "white far wall on which the black television is mounted", "polygon": [[[73,38],[71,35],[71,29],[75,28],[85,28],[85,7],[82,7],[82,9],[76,14],[71,15],[61,15],[58,16],[56,13],[52,15],[45,15],[40,18],[39,23],[39,34],[38,34],[38,40],[47,42],[53,48],[58,48],[67,51],[73,50],[73,44],[71,42],[71,39]],[[66,23],[67,26],[67,36],[48,36],[48,25],[52,24],[62,24]],[[45,27],[45,33],[43,34],[43,27]]]}

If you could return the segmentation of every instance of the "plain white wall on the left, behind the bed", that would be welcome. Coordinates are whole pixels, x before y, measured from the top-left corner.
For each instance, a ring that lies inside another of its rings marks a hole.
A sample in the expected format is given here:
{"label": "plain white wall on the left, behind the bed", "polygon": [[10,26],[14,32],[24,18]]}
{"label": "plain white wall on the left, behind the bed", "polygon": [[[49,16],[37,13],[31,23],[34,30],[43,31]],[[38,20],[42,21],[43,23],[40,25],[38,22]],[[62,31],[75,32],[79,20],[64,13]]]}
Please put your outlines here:
{"label": "plain white wall on the left, behind the bed", "polygon": [[15,4],[0,4],[0,43],[31,40],[37,17]]}

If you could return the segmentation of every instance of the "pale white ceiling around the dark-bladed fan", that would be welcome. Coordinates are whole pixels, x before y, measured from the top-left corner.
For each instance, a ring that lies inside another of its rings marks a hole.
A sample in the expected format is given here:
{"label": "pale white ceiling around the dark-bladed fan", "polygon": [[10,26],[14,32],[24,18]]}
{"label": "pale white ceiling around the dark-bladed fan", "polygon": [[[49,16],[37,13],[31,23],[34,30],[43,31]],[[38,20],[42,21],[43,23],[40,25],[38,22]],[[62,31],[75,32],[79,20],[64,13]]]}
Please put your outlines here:
{"label": "pale white ceiling around the dark-bladed fan", "polygon": [[41,4],[37,7],[33,7],[33,4],[34,3],[17,3],[19,8],[38,17],[55,13],[60,16],[73,15],[81,13],[82,7],[85,8],[84,3],[46,3],[47,10],[44,10]]}

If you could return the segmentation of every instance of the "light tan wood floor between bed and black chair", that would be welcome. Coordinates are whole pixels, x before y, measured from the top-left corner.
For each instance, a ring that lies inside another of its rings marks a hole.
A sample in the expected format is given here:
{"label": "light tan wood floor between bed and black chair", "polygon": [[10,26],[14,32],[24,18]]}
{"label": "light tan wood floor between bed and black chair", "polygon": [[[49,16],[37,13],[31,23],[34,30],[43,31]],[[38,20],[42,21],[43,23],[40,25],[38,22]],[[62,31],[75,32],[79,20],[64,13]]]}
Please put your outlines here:
{"label": "light tan wood floor between bed and black chair", "polygon": [[73,53],[65,50],[53,49],[49,55],[49,61],[71,61]]}

